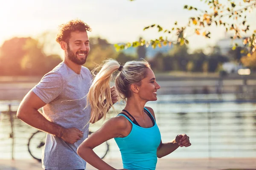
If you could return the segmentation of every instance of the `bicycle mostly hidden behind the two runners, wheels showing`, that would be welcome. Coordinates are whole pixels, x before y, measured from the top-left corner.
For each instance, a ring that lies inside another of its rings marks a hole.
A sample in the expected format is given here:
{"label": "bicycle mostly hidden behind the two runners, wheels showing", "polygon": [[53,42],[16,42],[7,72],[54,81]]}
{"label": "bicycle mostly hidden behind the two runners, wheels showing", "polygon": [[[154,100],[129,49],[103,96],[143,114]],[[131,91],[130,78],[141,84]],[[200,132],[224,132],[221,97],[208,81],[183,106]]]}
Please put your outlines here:
{"label": "bicycle mostly hidden behind the two runners, wheels showing", "polygon": [[[90,136],[93,132],[89,130],[88,136]],[[39,162],[42,161],[42,150],[45,144],[46,140],[46,133],[37,130],[35,133],[32,133],[32,135],[29,138],[28,142],[28,151],[29,154]],[[104,142],[103,144],[95,147],[93,151],[101,158],[104,159],[109,151],[109,144],[108,141]]]}

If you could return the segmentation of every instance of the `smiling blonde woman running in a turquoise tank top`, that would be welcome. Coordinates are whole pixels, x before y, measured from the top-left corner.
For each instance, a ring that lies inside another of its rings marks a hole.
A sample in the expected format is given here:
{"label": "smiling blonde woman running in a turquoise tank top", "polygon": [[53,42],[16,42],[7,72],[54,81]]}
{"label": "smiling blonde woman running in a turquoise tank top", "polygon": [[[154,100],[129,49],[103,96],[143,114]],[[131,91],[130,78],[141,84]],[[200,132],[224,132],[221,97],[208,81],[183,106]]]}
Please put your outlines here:
{"label": "smiling blonde woman running in a turquoise tank top", "polygon": [[87,103],[92,108],[90,122],[105,117],[106,108],[112,106],[109,82],[115,71],[119,71],[115,80],[116,89],[120,97],[126,99],[126,105],[121,113],[82,142],[77,150],[82,159],[99,170],[116,170],[93,152],[94,147],[114,138],[125,169],[155,170],[157,157],[166,156],[179,146],[191,145],[186,134],[176,136],[172,142],[162,143],[154,111],[145,107],[146,102],[157,100],[160,88],[148,62],[129,61],[120,66],[116,60],[108,59],[99,68],[101,70],[87,96]]}

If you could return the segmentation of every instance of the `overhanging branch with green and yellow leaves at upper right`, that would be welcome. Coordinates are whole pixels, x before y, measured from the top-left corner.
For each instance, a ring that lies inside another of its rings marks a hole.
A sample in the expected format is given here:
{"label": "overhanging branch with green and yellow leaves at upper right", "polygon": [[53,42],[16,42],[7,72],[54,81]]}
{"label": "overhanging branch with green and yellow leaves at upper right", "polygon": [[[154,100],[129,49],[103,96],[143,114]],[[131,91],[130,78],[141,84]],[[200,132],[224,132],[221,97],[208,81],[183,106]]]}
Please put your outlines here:
{"label": "overhanging branch with green and yellow leaves at upper right", "polygon": [[[168,45],[170,42],[179,45],[183,45],[185,43],[188,44],[189,42],[186,40],[187,37],[184,34],[187,27],[193,28],[194,34],[202,35],[206,38],[210,38],[211,33],[209,32],[209,26],[212,24],[215,24],[216,26],[223,26],[226,28],[226,31],[233,31],[234,35],[231,37],[233,39],[241,38],[241,33],[246,33],[249,30],[250,25],[247,23],[246,12],[253,11],[256,8],[256,0],[240,0],[239,5],[230,0],[226,1],[227,4],[219,3],[218,0],[205,0],[204,3],[206,3],[209,7],[208,11],[201,10],[193,6],[184,6],[184,9],[186,10],[195,10],[200,13],[198,16],[190,17],[185,26],[177,27],[176,21],[172,29],[165,29],[157,24],[151,24],[144,28],[144,30],[149,28],[157,28],[158,32],[163,31],[166,34],[169,34],[169,37],[176,37],[175,41],[170,41],[167,38],[164,40],[163,37],[159,37],[148,42],[145,42],[144,40],[140,42],[128,42],[125,45],[116,45],[116,48],[120,50],[129,48],[131,46],[137,47],[144,44],[151,44],[154,48],[157,45]],[[227,19],[229,22],[225,22]],[[253,53],[256,50],[256,30],[253,31],[253,34],[250,37],[247,37],[244,40],[244,44],[246,44],[246,47],[243,49],[245,54]]]}

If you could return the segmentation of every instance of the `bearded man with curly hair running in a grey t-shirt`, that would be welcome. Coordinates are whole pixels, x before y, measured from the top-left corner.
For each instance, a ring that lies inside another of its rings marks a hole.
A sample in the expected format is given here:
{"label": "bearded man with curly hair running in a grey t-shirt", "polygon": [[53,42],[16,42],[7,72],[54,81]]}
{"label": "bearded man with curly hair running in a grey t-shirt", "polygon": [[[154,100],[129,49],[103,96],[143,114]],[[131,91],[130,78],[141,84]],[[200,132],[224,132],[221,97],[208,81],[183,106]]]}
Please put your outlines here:
{"label": "bearded man with curly hair running in a grey t-shirt", "polygon": [[[88,136],[90,107],[86,95],[92,75],[82,66],[90,51],[87,31],[81,20],[61,25],[56,41],[65,52],[64,61],[44,75],[24,97],[17,117],[47,132],[42,167],[46,170],[85,169],[86,162],[76,153]],[[40,69],[40,68],[38,68]],[[38,109],[43,107],[43,113]]]}

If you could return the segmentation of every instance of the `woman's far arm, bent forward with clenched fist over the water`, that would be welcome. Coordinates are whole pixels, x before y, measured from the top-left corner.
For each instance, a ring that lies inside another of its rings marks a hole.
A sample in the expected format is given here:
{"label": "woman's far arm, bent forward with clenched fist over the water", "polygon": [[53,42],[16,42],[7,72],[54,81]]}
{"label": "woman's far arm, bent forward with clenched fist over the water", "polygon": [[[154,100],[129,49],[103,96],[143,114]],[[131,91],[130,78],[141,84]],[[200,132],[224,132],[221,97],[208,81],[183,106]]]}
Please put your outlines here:
{"label": "woman's far arm, bent forward with clenched fist over the water", "polygon": [[[152,108],[145,107],[150,111],[150,113],[154,116],[154,111]],[[186,136],[186,134],[178,135],[175,139],[173,139],[171,142],[162,143],[162,140],[159,144],[159,147],[157,148],[157,157],[162,158],[163,156],[169,155],[173,151],[175,151],[178,147],[188,147],[191,143],[189,142],[189,136]]]}

